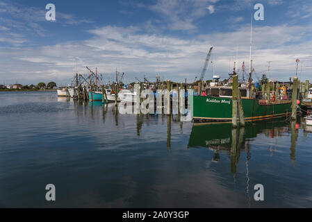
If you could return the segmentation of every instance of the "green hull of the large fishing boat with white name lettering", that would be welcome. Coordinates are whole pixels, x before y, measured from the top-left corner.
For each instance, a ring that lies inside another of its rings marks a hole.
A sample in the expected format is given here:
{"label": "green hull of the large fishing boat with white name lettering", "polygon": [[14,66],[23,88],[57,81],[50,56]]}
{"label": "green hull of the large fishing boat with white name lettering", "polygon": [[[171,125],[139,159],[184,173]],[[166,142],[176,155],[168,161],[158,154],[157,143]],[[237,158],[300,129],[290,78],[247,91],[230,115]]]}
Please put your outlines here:
{"label": "green hull of the large fishing boat with white name lettering", "polygon": [[[272,119],[291,114],[290,101],[277,101],[260,105],[256,99],[242,99],[246,121]],[[231,98],[194,96],[193,117],[195,121],[231,121]]]}

